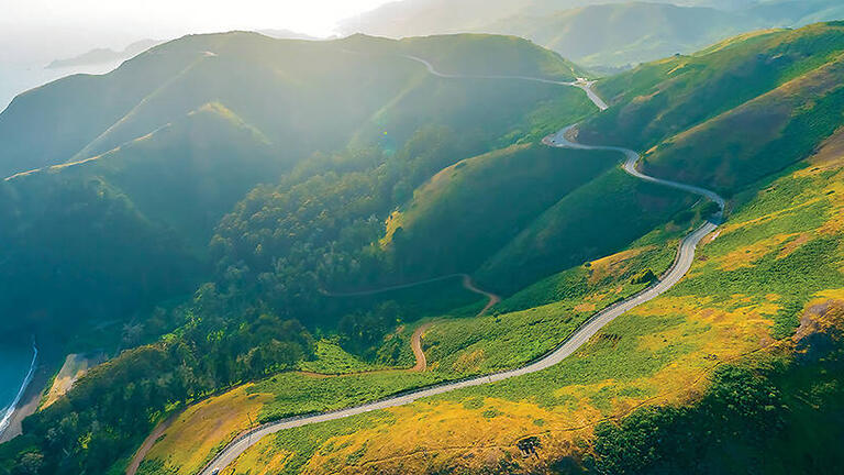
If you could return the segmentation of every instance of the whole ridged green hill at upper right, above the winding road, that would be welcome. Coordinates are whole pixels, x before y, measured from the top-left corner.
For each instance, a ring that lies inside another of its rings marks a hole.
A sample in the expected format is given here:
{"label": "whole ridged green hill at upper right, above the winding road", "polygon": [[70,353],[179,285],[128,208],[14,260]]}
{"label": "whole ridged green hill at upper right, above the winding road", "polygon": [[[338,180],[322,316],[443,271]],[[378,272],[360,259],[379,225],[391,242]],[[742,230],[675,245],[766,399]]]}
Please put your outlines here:
{"label": "whole ridged green hill at upper right, above the winding road", "polygon": [[646,169],[735,190],[806,156],[841,124],[843,53],[844,25],[820,23],[643,65],[599,86],[612,107],[579,136],[633,144],[648,151]]}

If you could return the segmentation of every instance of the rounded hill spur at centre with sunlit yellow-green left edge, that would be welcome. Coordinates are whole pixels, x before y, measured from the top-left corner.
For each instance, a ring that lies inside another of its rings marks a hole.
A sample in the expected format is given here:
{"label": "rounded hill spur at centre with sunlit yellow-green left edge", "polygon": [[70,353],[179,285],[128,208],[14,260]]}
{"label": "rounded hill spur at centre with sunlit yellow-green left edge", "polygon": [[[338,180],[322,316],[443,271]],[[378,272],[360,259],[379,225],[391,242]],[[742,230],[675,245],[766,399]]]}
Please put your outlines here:
{"label": "rounded hill spur at centre with sunlit yellow-green left edge", "polygon": [[534,144],[462,161],[393,212],[382,245],[401,274],[471,272],[614,158]]}

